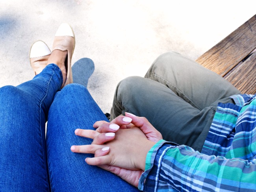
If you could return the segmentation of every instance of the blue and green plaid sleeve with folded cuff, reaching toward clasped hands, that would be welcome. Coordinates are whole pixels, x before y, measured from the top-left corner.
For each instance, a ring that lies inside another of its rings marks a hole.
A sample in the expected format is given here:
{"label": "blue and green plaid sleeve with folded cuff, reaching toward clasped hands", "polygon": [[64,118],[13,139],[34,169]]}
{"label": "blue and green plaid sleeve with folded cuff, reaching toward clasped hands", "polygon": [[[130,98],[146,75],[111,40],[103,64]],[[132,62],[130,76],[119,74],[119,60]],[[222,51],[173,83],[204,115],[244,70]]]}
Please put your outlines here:
{"label": "blue and green plaid sleeve with folded cuff, reaching toward clasped hands", "polygon": [[161,140],[149,151],[139,189],[143,191],[256,190],[256,164],[243,159],[204,155]]}

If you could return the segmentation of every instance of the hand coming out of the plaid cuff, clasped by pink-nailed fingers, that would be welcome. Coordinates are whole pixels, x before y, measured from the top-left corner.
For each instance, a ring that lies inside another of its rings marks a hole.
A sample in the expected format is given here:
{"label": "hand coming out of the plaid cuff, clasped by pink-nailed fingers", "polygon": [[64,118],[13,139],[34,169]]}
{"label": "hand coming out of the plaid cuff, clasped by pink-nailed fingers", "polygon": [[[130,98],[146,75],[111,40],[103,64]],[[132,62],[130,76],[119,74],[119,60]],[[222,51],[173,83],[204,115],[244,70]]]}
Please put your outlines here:
{"label": "hand coming out of the plaid cuff, clasped by pink-nailed fingers", "polygon": [[115,133],[115,139],[106,144],[72,146],[74,148],[71,150],[96,154],[98,157],[85,159],[91,165],[108,164],[129,170],[145,170],[147,153],[154,144],[155,142],[148,140],[138,127],[132,127],[119,129]]}

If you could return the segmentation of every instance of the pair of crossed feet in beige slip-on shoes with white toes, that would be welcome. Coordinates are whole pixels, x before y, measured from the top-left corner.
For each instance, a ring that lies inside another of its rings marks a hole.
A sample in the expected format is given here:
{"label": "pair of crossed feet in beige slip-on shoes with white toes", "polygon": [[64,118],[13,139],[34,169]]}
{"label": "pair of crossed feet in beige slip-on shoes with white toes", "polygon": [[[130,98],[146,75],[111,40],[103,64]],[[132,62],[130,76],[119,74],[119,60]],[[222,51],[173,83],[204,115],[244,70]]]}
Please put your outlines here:
{"label": "pair of crossed feet in beige slip-on shoes with white toes", "polygon": [[35,75],[39,74],[46,65],[54,63],[59,66],[63,75],[61,88],[69,83],[73,83],[71,59],[74,47],[74,32],[69,24],[66,23],[61,24],[56,32],[52,53],[44,42],[35,42],[30,50],[30,63]]}

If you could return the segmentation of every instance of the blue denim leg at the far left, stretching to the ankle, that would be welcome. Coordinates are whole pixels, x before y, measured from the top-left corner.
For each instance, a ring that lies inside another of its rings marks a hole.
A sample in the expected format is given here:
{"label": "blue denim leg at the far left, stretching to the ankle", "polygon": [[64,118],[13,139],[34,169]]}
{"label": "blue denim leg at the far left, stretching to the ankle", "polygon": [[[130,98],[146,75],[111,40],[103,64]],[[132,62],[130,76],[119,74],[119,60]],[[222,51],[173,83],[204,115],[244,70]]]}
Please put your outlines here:
{"label": "blue denim leg at the far left, stretching to the ankle", "polygon": [[62,83],[51,64],[31,81],[0,88],[0,191],[50,191],[45,120]]}

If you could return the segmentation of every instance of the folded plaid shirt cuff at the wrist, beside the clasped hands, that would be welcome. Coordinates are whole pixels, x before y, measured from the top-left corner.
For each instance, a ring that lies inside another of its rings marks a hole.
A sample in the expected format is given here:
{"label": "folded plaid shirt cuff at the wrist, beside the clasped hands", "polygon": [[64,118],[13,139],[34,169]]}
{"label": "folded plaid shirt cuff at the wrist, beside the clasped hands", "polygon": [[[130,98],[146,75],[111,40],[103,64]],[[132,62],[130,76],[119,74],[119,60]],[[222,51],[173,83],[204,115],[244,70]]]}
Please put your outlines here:
{"label": "folded plaid shirt cuff at the wrist, beside the clasped hands", "polygon": [[139,190],[155,191],[158,184],[158,174],[161,167],[161,157],[170,148],[175,148],[178,144],[159,140],[149,151],[146,157],[145,172],[139,178]]}

